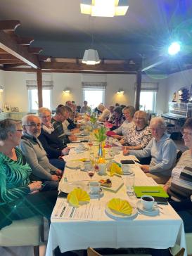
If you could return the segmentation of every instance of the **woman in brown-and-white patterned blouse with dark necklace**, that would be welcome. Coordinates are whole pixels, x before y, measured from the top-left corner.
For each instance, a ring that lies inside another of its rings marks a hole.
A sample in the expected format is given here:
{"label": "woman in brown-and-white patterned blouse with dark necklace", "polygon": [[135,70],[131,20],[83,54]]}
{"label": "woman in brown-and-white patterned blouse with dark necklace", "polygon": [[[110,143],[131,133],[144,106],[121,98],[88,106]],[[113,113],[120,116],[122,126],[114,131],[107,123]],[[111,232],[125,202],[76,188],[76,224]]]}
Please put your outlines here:
{"label": "woman in brown-and-white patterned blouse with dark necklace", "polygon": [[120,140],[122,145],[128,145],[124,149],[143,149],[152,135],[148,129],[147,114],[144,111],[138,110],[134,113],[134,126],[127,130],[127,134]]}

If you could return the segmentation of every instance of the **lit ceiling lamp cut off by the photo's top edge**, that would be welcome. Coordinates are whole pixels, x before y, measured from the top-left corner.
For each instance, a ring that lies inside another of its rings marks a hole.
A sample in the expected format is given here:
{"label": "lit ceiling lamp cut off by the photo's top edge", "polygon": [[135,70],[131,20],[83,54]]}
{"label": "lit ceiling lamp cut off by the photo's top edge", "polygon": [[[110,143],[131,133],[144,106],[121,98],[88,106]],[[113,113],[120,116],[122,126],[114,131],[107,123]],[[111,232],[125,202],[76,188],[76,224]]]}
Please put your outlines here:
{"label": "lit ceiling lamp cut off by the photo's top edge", "polygon": [[127,0],[81,0],[81,13],[99,17],[125,15],[129,6]]}

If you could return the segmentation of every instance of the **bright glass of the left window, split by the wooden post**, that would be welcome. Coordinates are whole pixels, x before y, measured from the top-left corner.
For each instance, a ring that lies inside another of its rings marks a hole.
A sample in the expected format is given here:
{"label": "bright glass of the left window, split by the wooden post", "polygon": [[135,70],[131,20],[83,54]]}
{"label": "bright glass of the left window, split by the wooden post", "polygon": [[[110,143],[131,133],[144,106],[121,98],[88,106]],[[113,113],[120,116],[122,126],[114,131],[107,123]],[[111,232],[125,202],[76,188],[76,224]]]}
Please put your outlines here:
{"label": "bright glass of the left window, split by the wooden post", "polygon": [[[43,106],[51,109],[51,90],[49,89],[43,89]],[[37,112],[38,110],[37,89],[29,90],[29,109],[30,112]]]}

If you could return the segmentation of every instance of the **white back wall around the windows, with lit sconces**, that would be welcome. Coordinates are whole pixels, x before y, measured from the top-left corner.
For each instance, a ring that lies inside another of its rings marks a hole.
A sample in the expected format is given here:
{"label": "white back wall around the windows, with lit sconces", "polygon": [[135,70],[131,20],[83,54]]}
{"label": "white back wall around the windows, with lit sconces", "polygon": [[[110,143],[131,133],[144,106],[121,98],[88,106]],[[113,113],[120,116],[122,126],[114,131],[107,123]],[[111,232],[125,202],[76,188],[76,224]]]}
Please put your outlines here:
{"label": "white back wall around the windows, with lit sconces", "polygon": [[[1,71],[1,70],[0,70]],[[105,104],[122,103],[124,105],[134,105],[136,75],[94,75],[98,76],[98,81],[105,79],[107,82]],[[102,76],[102,79],[101,79]],[[104,77],[104,78],[103,78]],[[28,111],[28,93],[26,87],[26,72],[0,72],[0,82],[3,81],[4,103],[11,107],[18,107],[20,111]],[[77,105],[82,105],[82,74],[52,73],[54,88],[52,91],[52,109],[60,103],[74,100]],[[167,111],[167,77],[142,76],[142,82],[159,82],[156,110]],[[63,89],[70,88],[70,94],[63,94]],[[117,95],[118,89],[124,90],[124,95]]]}

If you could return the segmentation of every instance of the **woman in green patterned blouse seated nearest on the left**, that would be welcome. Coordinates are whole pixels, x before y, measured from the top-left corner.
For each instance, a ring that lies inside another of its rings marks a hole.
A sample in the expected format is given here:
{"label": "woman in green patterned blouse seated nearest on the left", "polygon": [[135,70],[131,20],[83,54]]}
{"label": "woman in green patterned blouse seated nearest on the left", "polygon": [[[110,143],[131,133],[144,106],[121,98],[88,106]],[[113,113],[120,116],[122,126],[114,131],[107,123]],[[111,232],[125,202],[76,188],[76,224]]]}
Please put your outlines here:
{"label": "woman in green patterned blouse seated nearest on the left", "polygon": [[32,170],[18,148],[21,122],[0,121],[0,229],[15,219],[42,215],[50,219],[58,191],[41,191],[41,181],[30,181]]}

